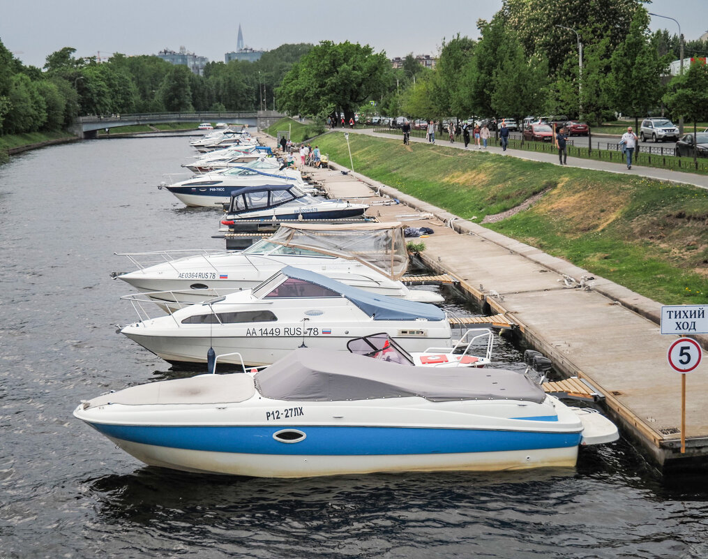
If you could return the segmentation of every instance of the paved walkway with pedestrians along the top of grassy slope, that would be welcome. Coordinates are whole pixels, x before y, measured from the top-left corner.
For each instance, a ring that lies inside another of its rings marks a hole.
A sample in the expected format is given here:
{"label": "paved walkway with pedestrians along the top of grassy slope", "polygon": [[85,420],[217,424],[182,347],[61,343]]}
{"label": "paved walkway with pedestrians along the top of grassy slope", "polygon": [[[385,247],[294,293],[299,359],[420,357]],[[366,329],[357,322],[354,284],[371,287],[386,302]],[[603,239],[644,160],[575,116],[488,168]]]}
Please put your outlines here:
{"label": "paved walkway with pedestrians along the top of grassy slope", "polygon": [[[342,129],[336,128],[331,131],[341,132]],[[353,130],[347,129],[345,131],[382,138],[395,138],[396,140],[403,141],[400,134],[383,134],[381,132],[374,132],[371,128],[355,128]],[[411,142],[428,144],[428,140],[418,137],[411,137]],[[463,142],[456,141],[454,144],[451,144],[450,140],[447,140],[447,135],[436,140],[435,145],[464,149]],[[470,144],[467,151],[475,152],[480,150],[476,149],[476,146],[473,147],[473,145]],[[490,153],[503,155],[506,157],[518,157],[518,159],[527,159],[529,161],[551,163],[554,165],[558,164],[558,155],[556,153],[528,152],[524,149],[511,148],[506,149],[506,152],[504,152],[501,147],[493,146],[489,146],[486,150],[483,149],[481,151],[488,151]],[[569,157],[568,166],[577,167],[578,169],[592,169],[593,171],[607,171],[608,173],[644,176],[649,179],[656,179],[658,181],[670,181],[675,183],[691,184],[693,186],[699,186],[700,188],[708,188],[708,175],[684,173],[680,171],[671,171],[669,169],[657,169],[656,167],[646,167],[634,164],[632,165],[632,169],[627,169],[627,165],[623,163],[596,161],[595,159],[582,159],[581,157]]]}

